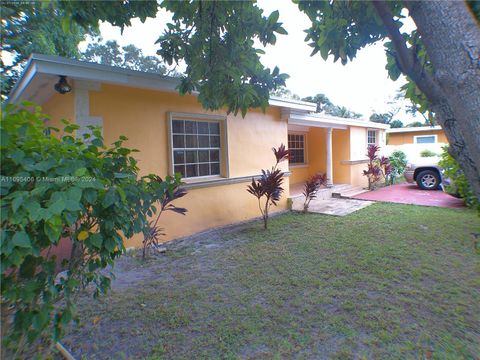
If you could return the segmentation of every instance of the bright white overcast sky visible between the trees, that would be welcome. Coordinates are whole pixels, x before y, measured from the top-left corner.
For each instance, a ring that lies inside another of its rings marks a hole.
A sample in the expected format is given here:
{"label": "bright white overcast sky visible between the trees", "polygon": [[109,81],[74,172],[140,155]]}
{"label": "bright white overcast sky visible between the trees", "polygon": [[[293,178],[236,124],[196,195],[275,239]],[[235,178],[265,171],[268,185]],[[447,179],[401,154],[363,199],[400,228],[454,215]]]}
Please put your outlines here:
{"label": "bright white overcast sky visible between the trees", "polygon": [[[289,74],[287,88],[292,93],[300,97],[323,93],[334,104],[345,106],[365,118],[373,112],[387,112],[397,106],[402,110],[396,119],[404,124],[418,120],[403,110],[408,105],[407,101],[392,104],[405,78],[392,81],[387,77],[386,57],[381,43],[360,50],[347,65],[342,65],[340,61],[334,63],[331,57],[324,61],[319,53],[311,57],[311,48],[304,41],[303,31],[308,27],[309,20],[295,4],[285,0],[259,0],[258,5],[267,15],[279,10],[279,21],[288,32],[288,35],[277,35],[277,43],[263,49],[262,63],[271,69],[278,66],[281,72]],[[122,46],[134,44],[144,54],[155,55],[158,49],[155,41],[170,19],[170,14],[161,10],[155,19],[147,19],[145,23],[134,19],[132,26],[125,28],[123,34],[120,28],[106,23],[101,24],[100,32],[104,40],[115,39]]]}

